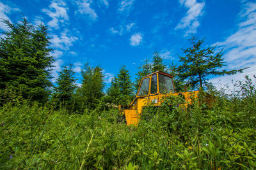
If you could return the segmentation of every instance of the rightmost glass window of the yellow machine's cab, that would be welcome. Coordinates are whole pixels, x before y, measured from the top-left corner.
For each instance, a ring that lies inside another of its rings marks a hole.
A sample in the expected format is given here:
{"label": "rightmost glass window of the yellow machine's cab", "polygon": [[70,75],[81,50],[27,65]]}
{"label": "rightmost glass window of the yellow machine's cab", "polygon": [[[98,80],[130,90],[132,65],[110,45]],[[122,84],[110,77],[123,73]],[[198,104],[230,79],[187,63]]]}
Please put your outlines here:
{"label": "rightmost glass window of the yellow machine's cab", "polygon": [[166,94],[174,92],[173,81],[169,76],[164,76],[163,74],[158,74],[159,79],[159,92],[161,94]]}

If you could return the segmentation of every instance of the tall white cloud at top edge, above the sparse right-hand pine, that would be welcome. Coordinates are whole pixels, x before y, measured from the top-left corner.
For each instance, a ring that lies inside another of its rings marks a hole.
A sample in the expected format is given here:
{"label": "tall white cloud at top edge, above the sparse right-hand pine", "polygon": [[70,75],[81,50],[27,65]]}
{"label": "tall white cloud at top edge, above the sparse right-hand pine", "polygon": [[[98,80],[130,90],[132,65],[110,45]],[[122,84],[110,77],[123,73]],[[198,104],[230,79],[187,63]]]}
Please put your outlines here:
{"label": "tall white cloud at top edge, above the sparse right-hand pine", "polygon": [[198,17],[202,16],[204,11],[205,3],[197,3],[196,0],[180,0],[180,4],[189,8],[186,16],[183,17],[175,30],[177,29],[186,29],[185,36],[188,36],[189,33],[195,33],[196,28],[200,25],[198,22]]}

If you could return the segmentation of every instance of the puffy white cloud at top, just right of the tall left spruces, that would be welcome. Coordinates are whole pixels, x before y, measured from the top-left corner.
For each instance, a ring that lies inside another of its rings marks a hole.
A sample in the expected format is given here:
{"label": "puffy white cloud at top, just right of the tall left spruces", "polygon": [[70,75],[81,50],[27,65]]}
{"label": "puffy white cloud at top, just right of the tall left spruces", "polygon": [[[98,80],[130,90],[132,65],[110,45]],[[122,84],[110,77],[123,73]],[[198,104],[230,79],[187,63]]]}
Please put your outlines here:
{"label": "puffy white cloud at top, just right of the tall left spruces", "polygon": [[67,14],[68,8],[66,5],[67,4],[63,1],[52,1],[49,5],[49,9],[42,10],[52,18],[52,20],[47,23],[49,27],[58,28],[60,22],[63,23],[69,19]]}

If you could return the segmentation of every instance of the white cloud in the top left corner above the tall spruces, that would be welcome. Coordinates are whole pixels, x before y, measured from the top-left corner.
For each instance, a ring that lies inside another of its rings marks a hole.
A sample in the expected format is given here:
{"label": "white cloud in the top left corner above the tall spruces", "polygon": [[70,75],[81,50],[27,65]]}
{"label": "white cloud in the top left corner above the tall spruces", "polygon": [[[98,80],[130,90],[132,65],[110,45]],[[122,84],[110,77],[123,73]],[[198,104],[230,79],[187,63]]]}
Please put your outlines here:
{"label": "white cloud in the top left corner above the tall spruces", "polygon": [[[0,2],[0,18],[2,18],[3,20],[9,20],[12,23],[10,18],[7,16],[8,14],[12,13],[12,11],[20,11],[20,10],[18,8],[12,8]],[[9,30],[9,28],[3,22],[0,22],[0,29],[3,31]]]}

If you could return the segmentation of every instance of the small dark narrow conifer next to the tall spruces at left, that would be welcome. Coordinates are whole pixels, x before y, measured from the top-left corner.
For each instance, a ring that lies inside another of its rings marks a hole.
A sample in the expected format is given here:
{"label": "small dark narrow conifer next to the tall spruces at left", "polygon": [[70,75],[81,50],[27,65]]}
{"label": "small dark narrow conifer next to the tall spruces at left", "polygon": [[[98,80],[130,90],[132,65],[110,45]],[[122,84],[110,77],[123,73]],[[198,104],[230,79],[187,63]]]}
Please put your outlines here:
{"label": "small dark narrow conifer next to the tall spruces at left", "polygon": [[56,80],[57,87],[54,87],[52,98],[59,101],[61,105],[70,110],[72,108],[72,96],[76,89],[75,72],[72,70],[72,64],[64,66]]}

